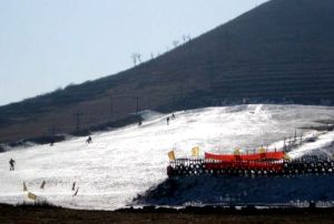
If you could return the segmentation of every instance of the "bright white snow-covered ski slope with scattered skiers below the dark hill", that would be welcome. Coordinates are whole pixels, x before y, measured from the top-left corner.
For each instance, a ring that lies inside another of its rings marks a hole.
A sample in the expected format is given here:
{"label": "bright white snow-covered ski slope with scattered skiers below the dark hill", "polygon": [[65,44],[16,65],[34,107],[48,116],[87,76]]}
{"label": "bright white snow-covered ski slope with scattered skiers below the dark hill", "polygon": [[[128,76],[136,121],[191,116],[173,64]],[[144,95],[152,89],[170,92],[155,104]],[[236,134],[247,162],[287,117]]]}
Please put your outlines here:
{"label": "bright white snow-covered ski slope with scattered skiers below the dark hill", "polygon": [[[29,201],[22,191],[38,198],[75,208],[115,210],[131,203],[137,194],[167,179],[167,152],[189,156],[198,145],[204,151],[233,152],[236,146],[254,149],[261,145],[282,147],[283,139],[293,136],[298,128],[316,125],[317,120],[333,120],[334,108],[306,105],[237,105],[206,108],[170,114],[144,112],[141,126],[73,138],[50,145],[14,149],[0,154],[0,203]],[[303,136],[311,135],[305,131]],[[315,132],[315,134],[318,134]],[[305,143],[291,152],[292,156],[324,151],[332,153],[334,133],[320,135],[318,141]],[[16,171],[9,171],[9,160],[16,160]],[[39,186],[46,181],[45,190]],[[78,195],[71,191],[76,181]]]}

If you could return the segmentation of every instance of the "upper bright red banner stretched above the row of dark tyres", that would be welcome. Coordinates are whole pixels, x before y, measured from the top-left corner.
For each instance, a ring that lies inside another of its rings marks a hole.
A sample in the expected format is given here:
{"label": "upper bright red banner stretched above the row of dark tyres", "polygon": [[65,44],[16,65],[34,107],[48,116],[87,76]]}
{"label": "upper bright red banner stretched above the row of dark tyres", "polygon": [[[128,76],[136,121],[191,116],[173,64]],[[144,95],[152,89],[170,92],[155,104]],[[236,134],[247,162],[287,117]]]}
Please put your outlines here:
{"label": "upper bright red banner stretched above the row of dark tyres", "polygon": [[284,152],[265,152],[254,153],[246,155],[227,155],[227,154],[213,154],[205,152],[206,160],[218,160],[222,162],[235,162],[235,161],[258,161],[258,160],[282,160],[284,159]]}

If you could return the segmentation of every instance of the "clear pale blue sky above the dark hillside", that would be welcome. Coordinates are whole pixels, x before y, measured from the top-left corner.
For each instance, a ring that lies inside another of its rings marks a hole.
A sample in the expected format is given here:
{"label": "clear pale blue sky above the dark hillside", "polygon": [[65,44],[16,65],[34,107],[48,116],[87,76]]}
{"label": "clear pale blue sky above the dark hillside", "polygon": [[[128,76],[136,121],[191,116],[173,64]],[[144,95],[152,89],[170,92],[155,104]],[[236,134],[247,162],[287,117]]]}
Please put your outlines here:
{"label": "clear pale blue sky above the dark hillside", "polygon": [[0,0],[0,105],[118,73],[267,0]]}

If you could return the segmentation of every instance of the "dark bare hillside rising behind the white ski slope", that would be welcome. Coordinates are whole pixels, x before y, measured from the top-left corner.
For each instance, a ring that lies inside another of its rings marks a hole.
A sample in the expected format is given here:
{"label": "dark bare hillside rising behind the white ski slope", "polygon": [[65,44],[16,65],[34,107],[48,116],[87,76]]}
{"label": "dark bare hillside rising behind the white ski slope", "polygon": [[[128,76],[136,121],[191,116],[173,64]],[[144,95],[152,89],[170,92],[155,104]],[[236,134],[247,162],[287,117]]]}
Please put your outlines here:
{"label": "dark bare hillside rising behind the white ski slope", "polygon": [[331,104],[333,23],[332,0],[272,0],[136,68],[1,106],[0,142],[73,132],[78,112],[90,129],[137,109]]}

